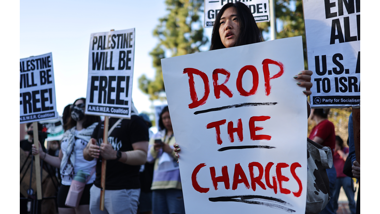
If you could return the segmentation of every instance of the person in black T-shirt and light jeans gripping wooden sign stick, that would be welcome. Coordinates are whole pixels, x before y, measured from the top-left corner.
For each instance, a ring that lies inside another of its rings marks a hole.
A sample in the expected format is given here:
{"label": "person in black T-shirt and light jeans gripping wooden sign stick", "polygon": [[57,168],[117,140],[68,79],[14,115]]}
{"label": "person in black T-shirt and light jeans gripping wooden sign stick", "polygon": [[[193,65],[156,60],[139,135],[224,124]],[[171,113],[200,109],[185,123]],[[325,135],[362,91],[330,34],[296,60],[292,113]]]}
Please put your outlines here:
{"label": "person in black T-shirt and light jeans gripping wooden sign stick", "polygon": [[[97,159],[96,179],[90,190],[91,214],[136,214],[139,197],[139,170],[146,161],[148,127],[132,104],[131,119],[109,118],[108,144],[103,143],[104,125],[96,126],[83,151],[86,160]],[[102,159],[107,160],[104,211],[99,210]]]}

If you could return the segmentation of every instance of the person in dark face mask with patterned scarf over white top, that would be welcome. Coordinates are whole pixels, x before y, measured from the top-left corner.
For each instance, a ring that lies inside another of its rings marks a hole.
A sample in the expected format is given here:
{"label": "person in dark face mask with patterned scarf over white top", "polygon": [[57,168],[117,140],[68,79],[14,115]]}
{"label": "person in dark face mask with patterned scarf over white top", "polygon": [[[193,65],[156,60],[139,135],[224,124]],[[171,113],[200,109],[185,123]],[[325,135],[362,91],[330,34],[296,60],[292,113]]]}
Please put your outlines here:
{"label": "person in dark face mask with patterned scarf over white top", "polygon": [[80,98],[70,107],[70,117],[64,124],[66,131],[63,134],[58,157],[43,152],[41,146],[39,150],[34,146],[32,148],[33,155],[39,155],[40,159],[60,169],[61,186],[57,197],[59,214],[90,214],[90,188],[95,180],[95,173],[86,183],[79,206],[77,208],[65,206],[74,176],[80,170],[90,175],[96,165],[96,160],[87,161],[83,158],[83,149],[90,141],[91,134],[101,120],[99,116],[85,115],[85,104],[86,99]]}

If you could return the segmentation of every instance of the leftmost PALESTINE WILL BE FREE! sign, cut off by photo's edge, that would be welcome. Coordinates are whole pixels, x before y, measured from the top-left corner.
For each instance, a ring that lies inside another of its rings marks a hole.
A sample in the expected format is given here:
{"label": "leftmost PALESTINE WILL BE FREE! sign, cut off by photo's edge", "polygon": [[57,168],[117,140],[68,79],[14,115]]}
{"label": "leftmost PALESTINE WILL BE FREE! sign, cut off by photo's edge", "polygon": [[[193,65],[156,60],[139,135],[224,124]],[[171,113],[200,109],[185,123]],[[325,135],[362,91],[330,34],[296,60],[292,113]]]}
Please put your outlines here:
{"label": "leftmost PALESTINE WILL BE FREE! sign, cut off by photo's edge", "polygon": [[20,123],[57,118],[51,53],[20,59]]}

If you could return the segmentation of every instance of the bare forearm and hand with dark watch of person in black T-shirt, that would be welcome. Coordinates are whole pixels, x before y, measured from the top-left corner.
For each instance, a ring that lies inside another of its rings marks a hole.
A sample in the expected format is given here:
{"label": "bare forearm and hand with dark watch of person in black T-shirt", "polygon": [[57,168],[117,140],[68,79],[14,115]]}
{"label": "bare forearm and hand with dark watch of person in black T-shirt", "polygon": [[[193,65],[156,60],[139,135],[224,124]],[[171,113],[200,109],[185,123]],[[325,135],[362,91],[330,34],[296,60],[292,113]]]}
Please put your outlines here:
{"label": "bare forearm and hand with dark watch of person in black T-shirt", "polygon": [[[120,162],[129,165],[142,165],[146,162],[146,154],[148,151],[148,141],[141,141],[132,144],[133,150],[122,152]],[[117,158],[117,151],[115,151],[111,144],[100,144],[100,155],[105,160],[115,160]]]}

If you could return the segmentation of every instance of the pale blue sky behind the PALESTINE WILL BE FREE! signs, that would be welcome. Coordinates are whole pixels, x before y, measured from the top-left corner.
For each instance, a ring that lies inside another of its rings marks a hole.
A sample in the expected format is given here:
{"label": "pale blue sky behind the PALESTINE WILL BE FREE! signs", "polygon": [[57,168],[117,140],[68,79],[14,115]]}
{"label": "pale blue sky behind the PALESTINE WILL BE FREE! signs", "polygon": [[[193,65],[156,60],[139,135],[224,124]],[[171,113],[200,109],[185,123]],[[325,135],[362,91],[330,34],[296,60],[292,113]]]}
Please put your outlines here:
{"label": "pale blue sky behind the PALESTINE WILL BE FREE! signs", "polygon": [[91,33],[135,28],[135,69],[132,99],[139,112],[151,111],[148,96],[138,88],[138,78],[153,78],[149,52],[158,40],[152,32],[163,17],[164,1],[66,0],[20,1],[20,58],[52,53],[56,107],[86,97]]}

